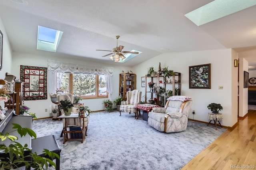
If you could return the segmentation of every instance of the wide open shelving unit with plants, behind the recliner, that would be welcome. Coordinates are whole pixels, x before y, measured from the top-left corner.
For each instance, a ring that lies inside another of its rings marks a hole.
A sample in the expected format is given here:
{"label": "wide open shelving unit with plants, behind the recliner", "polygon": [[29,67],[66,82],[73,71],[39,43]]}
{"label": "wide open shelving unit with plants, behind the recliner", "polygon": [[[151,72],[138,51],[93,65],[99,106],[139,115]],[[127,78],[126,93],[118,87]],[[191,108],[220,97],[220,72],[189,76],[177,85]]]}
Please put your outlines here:
{"label": "wide open shelving unit with plants, behind the recliner", "polygon": [[[169,78],[168,78],[169,77]],[[145,102],[148,103],[148,99],[157,98],[157,105],[164,105],[159,102],[159,91],[156,90],[154,92],[150,92],[150,88],[148,87],[148,82],[154,82],[157,86],[160,86],[165,89],[165,92],[167,90],[172,90],[172,96],[175,95],[175,88],[178,88],[178,96],[180,96],[180,90],[181,90],[181,74],[178,72],[175,72],[174,75],[168,75],[166,76],[167,83],[164,80],[164,76],[156,74],[156,76],[147,76],[145,75]],[[162,83],[160,83],[162,81]],[[171,82],[170,82],[171,81]],[[163,102],[163,101],[161,101]]]}

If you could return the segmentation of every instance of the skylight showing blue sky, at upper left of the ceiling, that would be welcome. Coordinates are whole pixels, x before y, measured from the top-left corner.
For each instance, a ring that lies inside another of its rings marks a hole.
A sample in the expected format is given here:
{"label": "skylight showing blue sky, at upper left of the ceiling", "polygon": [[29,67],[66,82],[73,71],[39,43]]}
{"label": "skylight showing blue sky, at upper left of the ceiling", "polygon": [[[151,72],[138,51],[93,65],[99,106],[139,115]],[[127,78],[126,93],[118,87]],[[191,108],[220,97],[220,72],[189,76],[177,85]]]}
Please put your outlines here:
{"label": "skylight showing blue sky, at upper left of the ceiling", "polygon": [[56,52],[62,34],[62,31],[54,30],[44,26],[38,26],[37,49]]}

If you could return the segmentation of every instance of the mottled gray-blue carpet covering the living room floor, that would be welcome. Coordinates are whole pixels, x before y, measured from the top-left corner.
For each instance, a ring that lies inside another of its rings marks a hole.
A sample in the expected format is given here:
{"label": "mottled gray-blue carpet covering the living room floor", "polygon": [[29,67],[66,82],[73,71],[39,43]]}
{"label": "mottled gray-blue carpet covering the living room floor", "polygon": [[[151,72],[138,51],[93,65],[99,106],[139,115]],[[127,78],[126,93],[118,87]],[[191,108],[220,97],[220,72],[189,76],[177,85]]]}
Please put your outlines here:
{"label": "mottled gray-blue carpet covering the living room floor", "polygon": [[[207,116],[207,115],[206,115]],[[184,132],[158,132],[134,114],[90,114],[88,136],[62,144],[62,121],[34,120],[37,137],[53,134],[60,145],[61,170],[179,170],[226,128],[188,121]],[[53,169],[52,167],[50,169]]]}

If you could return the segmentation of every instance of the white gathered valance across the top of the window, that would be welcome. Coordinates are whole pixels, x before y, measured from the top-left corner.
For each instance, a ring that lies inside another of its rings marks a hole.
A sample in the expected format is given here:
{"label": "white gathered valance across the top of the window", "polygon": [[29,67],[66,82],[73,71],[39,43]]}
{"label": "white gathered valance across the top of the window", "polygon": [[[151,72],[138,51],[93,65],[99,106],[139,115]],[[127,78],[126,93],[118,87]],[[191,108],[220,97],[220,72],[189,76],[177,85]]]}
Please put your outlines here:
{"label": "white gathered valance across the top of the window", "polygon": [[68,62],[48,60],[48,70],[51,72],[70,72],[79,74],[100,74],[113,76],[114,68],[102,66],[86,66]]}

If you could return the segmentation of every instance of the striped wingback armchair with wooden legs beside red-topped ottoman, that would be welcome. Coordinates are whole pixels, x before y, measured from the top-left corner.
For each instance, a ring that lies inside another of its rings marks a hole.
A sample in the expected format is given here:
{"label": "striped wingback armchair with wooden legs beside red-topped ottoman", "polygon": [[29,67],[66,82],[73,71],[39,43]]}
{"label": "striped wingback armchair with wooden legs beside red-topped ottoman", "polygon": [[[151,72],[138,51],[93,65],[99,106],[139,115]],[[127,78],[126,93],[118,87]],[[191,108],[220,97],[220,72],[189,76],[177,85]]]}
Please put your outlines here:
{"label": "striped wingback armchair with wooden legs beside red-topped ottoman", "polygon": [[126,101],[122,101],[120,105],[120,116],[121,111],[128,112],[129,114],[133,112],[135,114],[135,118],[138,119],[137,110],[135,106],[140,104],[141,92],[139,90],[132,90],[126,92]]}

